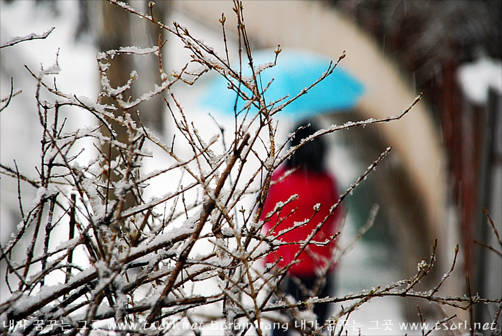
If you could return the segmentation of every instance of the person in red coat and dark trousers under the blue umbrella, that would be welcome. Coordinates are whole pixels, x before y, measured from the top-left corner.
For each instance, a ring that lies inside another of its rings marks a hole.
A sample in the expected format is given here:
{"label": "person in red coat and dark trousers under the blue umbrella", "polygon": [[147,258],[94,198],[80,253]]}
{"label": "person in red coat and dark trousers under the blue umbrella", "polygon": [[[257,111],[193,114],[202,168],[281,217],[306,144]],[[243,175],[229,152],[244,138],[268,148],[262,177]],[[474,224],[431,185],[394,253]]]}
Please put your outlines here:
{"label": "person in red coat and dark trousers under the blue umbrella", "polygon": [[[292,139],[292,147],[298,146],[303,139],[314,134],[318,129],[313,123],[306,121],[298,124],[295,130],[298,131]],[[264,234],[278,234],[282,230],[293,227],[295,222],[303,222],[311,218],[314,215],[314,207],[321,204],[319,212],[308,223],[298,226],[279,238],[289,243],[304,241],[329,214],[331,206],[338,201],[339,194],[335,178],[326,170],[325,157],[324,139],[317,138],[297,149],[285,164],[273,173],[272,185],[269,188],[261,219],[264,220],[278,202],[285,202],[294,194],[297,194],[298,198],[286,204],[279,215],[275,214],[265,223]],[[293,169],[296,170],[284,177],[286,172]],[[340,214],[341,207],[339,206],[313,240],[323,242],[334,235],[339,228]],[[283,294],[291,294],[296,300],[307,300],[313,296],[319,298],[328,296],[334,281],[335,265],[330,265],[330,263],[332,264],[336,240],[325,246],[308,245],[299,257],[293,260],[300,247],[301,244],[282,245],[265,258],[266,263],[275,263],[279,260],[277,267],[284,267],[294,261],[299,261],[291,266],[288,276],[278,289]],[[327,268],[329,270],[327,276],[324,277],[322,273]],[[315,305],[313,310],[317,315],[319,325],[322,325],[329,317],[328,308],[328,304]],[[274,329],[274,335],[281,334],[286,334],[286,332],[282,329]]]}

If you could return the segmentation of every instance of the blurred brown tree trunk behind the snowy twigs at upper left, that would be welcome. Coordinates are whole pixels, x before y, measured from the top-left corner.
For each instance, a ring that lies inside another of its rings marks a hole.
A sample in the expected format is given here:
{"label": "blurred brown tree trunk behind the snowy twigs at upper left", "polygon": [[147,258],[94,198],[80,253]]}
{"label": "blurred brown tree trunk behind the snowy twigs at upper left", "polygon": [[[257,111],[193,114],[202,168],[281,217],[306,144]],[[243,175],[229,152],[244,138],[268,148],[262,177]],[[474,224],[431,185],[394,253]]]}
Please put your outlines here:
{"label": "blurred brown tree trunk behind the snowy twigs at upper left", "polygon": [[[150,14],[148,0],[129,0],[127,3],[143,13]],[[152,10],[154,19],[164,22],[164,18],[169,12],[170,3],[167,0],[159,1]],[[141,48],[153,47],[158,45],[159,33],[161,33],[161,41],[164,41],[165,33],[158,26],[146,22],[146,20],[138,18],[106,0],[92,2],[80,0],[79,7],[80,22],[76,31],[76,39],[83,38],[90,33],[100,51],[133,45]],[[153,91],[155,84],[161,84],[159,59],[155,54],[146,56],[115,55],[108,62],[110,67],[106,73],[112,87],[126,84],[130,79],[132,70],[138,71],[138,79],[133,83],[131,90],[123,93],[123,100],[130,97],[135,99],[143,93]],[[124,111],[115,104],[114,99],[102,97],[100,102],[115,105],[117,107],[116,116],[124,114]],[[143,125],[153,130],[157,135],[162,136],[164,130],[162,95],[157,95],[148,101],[142,102],[137,109],[130,110],[129,113],[135,122],[138,123],[141,119]],[[138,115],[140,119],[138,119]],[[127,130],[114,122],[111,122],[111,125],[117,133],[117,140],[127,143]],[[107,134],[106,130],[103,132]],[[115,148],[111,148],[111,153],[110,147],[101,150],[109,157],[110,161],[113,161],[118,155]],[[111,176],[111,179],[117,180],[118,176]],[[112,197],[110,195],[110,198]],[[135,204],[137,204],[137,199],[131,193],[127,196],[125,206],[130,207]]]}

